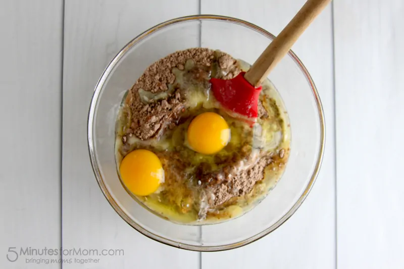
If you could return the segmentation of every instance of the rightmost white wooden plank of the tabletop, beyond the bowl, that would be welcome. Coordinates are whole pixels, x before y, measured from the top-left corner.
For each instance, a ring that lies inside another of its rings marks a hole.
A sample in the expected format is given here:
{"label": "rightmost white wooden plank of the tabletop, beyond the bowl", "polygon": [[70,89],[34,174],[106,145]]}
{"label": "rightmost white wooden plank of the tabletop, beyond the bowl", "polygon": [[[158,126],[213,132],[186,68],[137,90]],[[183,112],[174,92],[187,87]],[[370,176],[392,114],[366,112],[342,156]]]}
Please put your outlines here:
{"label": "rightmost white wooden plank of the tabletop, beyond the bowl", "polygon": [[404,265],[404,2],[334,2],[338,268]]}

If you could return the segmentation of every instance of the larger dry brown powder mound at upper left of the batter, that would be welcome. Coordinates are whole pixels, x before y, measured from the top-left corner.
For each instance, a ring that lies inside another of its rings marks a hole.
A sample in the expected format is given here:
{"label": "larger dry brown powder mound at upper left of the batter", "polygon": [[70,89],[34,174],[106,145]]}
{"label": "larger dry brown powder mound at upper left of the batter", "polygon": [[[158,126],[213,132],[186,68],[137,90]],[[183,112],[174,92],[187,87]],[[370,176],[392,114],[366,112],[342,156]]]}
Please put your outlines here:
{"label": "larger dry brown powder mound at upper left of the batter", "polygon": [[[222,69],[218,77],[229,79],[240,72],[236,60],[231,56],[224,52],[219,52],[216,56]],[[126,103],[132,114],[131,129],[138,138],[146,140],[161,134],[177,119],[184,104],[184,99],[178,96],[179,91],[175,93],[174,98],[169,96],[161,102],[143,104],[139,98],[139,89],[153,93],[168,90],[167,85],[175,81],[172,69],[177,67],[183,70],[186,61],[190,59],[194,61],[195,66],[210,67],[215,59],[215,51],[200,47],[176,51],[150,65],[130,89]]]}

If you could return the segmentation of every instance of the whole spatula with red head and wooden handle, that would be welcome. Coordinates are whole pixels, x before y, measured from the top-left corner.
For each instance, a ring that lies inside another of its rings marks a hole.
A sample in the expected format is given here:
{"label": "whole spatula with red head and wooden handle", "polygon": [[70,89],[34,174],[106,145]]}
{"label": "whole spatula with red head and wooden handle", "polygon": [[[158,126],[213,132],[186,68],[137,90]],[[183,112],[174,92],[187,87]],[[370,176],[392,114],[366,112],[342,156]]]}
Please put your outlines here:
{"label": "whole spatula with red head and wooden handle", "polygon": [[241,72],[229,80],[212,78],[210,81],[216,99],[232,112],[257,118],[261,82],[330,2],[308,0],[246,73]]}

